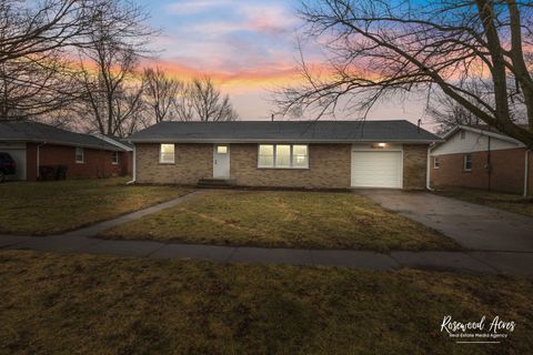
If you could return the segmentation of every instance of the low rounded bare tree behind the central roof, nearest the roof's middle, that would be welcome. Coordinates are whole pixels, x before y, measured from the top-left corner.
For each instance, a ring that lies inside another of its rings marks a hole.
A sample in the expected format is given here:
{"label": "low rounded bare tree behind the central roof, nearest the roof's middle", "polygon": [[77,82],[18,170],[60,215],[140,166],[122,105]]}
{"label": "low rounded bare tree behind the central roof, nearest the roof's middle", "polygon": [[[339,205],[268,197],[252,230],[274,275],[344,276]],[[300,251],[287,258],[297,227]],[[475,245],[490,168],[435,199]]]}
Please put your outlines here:
{"label": "low rounded bare tree behind the central roof, nearest the roof's middle", "polygon": [[239,120],[230,97],[223,95],[209,77],[197,78],[183,89],[177,112],[182,121]]}

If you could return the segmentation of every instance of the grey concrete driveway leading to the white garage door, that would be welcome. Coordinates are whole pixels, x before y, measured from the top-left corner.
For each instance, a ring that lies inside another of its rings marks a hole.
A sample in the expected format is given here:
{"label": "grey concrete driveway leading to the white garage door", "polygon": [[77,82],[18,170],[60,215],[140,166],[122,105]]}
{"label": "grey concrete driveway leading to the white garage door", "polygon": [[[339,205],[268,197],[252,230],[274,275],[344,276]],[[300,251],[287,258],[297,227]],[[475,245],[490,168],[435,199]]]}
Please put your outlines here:
{"label": "grey concrete driveway leading to the white garage door", "polygon": [[431,193],[396,190],[361,190],[358,193],[450,236],[470,250],[533,252],[531,217]]}

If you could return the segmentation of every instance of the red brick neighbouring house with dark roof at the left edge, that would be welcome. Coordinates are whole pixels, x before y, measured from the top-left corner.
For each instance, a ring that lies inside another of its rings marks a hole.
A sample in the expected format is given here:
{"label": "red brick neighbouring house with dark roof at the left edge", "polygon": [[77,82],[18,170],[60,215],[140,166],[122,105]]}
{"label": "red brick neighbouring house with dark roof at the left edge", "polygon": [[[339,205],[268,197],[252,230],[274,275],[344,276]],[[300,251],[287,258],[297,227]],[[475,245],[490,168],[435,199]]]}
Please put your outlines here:
{"label": "red brick neighbouring house with dark roof at the left edge", "polygon": [[131,175],[133,149],[108,136],[74,133],[52,125],[0,122],[0,152],[17,163],[9,180],[36,181],[42,166],[67,166],[67,179]]}

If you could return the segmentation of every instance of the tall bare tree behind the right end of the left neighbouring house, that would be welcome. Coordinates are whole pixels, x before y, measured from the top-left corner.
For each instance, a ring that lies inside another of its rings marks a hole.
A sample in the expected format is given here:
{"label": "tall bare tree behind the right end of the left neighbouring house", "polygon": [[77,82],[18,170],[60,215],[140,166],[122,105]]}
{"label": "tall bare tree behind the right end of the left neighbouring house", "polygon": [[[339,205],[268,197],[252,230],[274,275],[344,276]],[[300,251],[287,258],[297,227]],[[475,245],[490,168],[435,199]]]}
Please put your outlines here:
{"label": "tall bare tree behind the right end of the left neighbouring house", "polygon": [[89,45],[80,49],[80,116],[101,134],[119,135],[135,126],[143,84],[135,69],[139,57],[154,33],[144,24],[147,14],[133,3],[114,0],[99,3],[88,34]]}

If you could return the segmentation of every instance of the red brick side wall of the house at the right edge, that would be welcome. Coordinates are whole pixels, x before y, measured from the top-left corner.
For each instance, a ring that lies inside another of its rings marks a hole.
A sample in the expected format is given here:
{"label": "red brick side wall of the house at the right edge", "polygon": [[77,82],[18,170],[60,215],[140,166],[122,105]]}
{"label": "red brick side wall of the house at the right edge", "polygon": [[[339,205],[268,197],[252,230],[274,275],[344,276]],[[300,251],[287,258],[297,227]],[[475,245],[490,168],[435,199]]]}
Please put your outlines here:
{"label": "red brick side wall of the house at the right edge", "polygon": [[[523,193],[524,189],[524,164],[525,149],[509,149],[491,152],[491,171],[486,169],[487,152],[472,153],[472,171],[463,171],[463,155],[441,155],[440,169],[433,169],[431,162],[431,182],[434,186],[463,186],[502,191],[511,193]],[[533,159],[530,156],[530,162]],[[530,163],[530,174],[533,166]],[[530,176],[530,181],[533,181]],[[530,193],[533,186],[530,184]]]}

